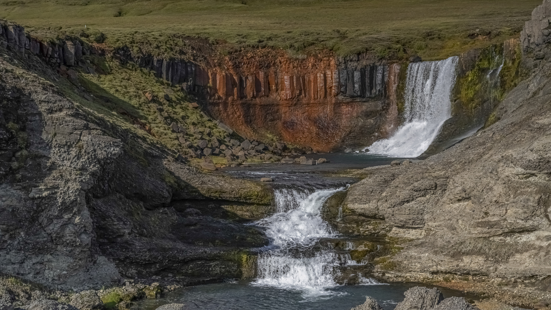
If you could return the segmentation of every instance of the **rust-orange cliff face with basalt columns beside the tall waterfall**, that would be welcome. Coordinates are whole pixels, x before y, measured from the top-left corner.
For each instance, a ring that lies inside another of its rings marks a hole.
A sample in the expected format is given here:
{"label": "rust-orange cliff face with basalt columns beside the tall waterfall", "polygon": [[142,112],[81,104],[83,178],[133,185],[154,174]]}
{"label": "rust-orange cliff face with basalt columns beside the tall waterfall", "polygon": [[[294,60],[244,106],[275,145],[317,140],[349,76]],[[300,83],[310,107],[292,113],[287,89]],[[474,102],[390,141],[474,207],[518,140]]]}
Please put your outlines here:
{"label": "rust-orange cliff face with basalt columns beside the tall waterfall", "polygon": [[198,69],[196,83],[212,85],[207,109],[215,118],[246,137],[270,132],[321,151],[374,140],[365,132],[379,131],[393,87],[386,63],[369,54],[297,60],[284,51],[247,53]]}

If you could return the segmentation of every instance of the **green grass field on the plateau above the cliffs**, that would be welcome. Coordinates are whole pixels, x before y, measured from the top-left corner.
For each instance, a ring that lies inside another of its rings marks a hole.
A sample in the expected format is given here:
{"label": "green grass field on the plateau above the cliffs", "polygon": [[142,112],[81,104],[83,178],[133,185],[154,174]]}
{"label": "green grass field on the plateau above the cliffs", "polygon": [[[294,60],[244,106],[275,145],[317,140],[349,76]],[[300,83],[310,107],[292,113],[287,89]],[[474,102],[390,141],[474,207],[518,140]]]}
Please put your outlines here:
{"label": "green grass field on the plateau above the cliffs", "polygon": [[[194,35],[295,54],[457,55],[518,35],[541,0],[0,0],[0,17],[37,32],[99,29],[111,45]],[[48,29],[49,28],[49,29]],[[56,29],[57,28],[57,29]],[[469,39],[477,29],[491,31]],[[159,39],[160,38],[160,39]],[[170,44],[160,47],[170,49]]]}

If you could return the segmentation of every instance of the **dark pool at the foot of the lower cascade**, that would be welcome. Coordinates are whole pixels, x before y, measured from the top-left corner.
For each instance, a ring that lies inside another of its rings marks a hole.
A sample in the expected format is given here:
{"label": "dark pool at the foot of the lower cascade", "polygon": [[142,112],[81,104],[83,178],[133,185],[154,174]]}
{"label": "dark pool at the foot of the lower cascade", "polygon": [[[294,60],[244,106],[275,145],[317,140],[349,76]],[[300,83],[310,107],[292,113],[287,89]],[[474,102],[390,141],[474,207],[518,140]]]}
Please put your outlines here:
{"label": "dark pool at the foot of the lower cascade", "polygon": [[[142,300],[131,307],[153,310],[167,303],[183,303],[190,309],[215,310],[350,310],[373,297],[385,310],[392,310],[404,298],[403,293],[418,284],[344,285],[326,290],[325,295],[253,285],[251,281],[232,280],[181,288],[158,300]],[[434,286],[426,286],[434,287]],[[439,287],[444,297],[463,296],[461,292]]]}

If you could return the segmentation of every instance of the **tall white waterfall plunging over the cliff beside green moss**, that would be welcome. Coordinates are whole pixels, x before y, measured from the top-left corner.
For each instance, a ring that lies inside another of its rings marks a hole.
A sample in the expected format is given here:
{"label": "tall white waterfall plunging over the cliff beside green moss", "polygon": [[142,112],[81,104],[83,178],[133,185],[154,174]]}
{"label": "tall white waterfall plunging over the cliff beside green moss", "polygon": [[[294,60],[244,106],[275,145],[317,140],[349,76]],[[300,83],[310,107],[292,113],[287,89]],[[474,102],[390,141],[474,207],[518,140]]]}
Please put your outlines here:
{"label": "tall white waterfall plunging over the cliff beside green moss", "polygon": [[369,146],[369,153],[413,158],[433,142],[451,116],[451,92],[457,56],[441,61],[410,63],[404,93],[404,124],[395,134]]}

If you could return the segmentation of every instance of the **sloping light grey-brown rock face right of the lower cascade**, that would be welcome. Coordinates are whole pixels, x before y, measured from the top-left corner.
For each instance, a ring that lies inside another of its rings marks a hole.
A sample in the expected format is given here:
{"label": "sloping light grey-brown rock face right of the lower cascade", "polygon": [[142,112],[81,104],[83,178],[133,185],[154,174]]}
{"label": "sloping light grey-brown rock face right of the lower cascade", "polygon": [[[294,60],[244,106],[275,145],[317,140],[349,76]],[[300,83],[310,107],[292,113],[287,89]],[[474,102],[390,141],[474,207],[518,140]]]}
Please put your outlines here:
{"label": "sloping light grey-brown rock face right of the lower cascade", "polygon": [[526,306],[549,298],[551,64],[530,55],[530,78],[498,105],[495,124],[423,162],[366,169],[351,186],[343,202],[348,231],[399,244],[395,255],[375,260],[380,277]]}

